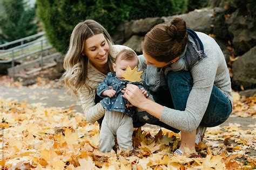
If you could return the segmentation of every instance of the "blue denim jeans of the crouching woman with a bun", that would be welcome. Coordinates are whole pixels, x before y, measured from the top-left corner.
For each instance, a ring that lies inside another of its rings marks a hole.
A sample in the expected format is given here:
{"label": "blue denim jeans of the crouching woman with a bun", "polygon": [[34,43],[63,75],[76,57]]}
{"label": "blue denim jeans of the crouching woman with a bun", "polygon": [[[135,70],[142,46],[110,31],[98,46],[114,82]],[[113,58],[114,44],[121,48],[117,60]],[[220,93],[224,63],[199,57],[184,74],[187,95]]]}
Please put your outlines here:
{"label": "blue denim jeans of the crouching woman with a bun", "polygon": [[[166,107],[184,111],[188,95],[193,87],[191,73],[188,71],[169,72],[166,82],[168,86],[160,88],[157,93],[153,94],[154,101]],[[213,85],[210,101],[200,125],[218,126],[226,121],[231,112],[231,101],[222,90]]]}

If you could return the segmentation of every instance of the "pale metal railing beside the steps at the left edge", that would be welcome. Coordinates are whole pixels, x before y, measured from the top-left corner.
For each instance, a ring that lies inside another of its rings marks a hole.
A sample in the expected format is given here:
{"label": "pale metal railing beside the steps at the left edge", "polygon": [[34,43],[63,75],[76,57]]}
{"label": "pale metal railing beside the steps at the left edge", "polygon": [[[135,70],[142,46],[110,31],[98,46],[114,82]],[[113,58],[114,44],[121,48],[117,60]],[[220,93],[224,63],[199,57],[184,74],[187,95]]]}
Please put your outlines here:
{"label": "pale metal railing beside the steps at the left edge", "polygon": [[[1,47],[5,47],[5,46],[9,46],[9,45],[21,42],[21,45],[19,45],[19,46],[12,47],[10,49],[4,49],[4,50],[0,51],[0,52],[4,51],[4,53],[0,54],[0,59],[5,58],[4,60],[0,60],[0,63],[11,62],[12,76],[13,77],[15,76],[15,61],[23,59],[27,56],[30,56],[30,55],[33,55],[33,54],[36,54],[36,53],[41,52],[40,66],[43,69],[44,51],[46,51],[46,53],[49,54],[48,50],[52,48],[52,46],[48,44],[48,39],[43,37],[43,38],[39,38],[39,39],[31,41],[31,42],[27,42],[25,44],[23,44],[23,42],[25,40],[35,39],[37,37],[42,37],[44,34],[45,34],[44,32],[41,32],[41,33],[35,34],[33,36],[21,38],[21,39],[18,39],[18,40],[11,41],[11,42],[0,45],[0,48],[1,48]],[[28,52],[26,52],[26,51],[28,51]]]}

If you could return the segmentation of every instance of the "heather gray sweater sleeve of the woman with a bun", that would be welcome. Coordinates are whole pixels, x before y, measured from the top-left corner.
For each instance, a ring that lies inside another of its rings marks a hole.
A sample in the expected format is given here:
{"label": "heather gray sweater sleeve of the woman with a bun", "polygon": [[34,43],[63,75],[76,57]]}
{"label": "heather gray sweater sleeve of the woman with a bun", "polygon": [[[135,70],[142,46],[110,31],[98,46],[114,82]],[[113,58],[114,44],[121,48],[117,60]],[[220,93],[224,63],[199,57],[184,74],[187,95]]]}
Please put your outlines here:
{"label": "heather gray sweater sleeve of the woman with a bun", "polygon": [[[190,133],[197,129],[210,101],[215,75],[218,68],[216,52],[208,52],[203,59],[191,69],[193,87],[188,96],[184,111],[164,107],[160,121],[173,128]],[[212,56],[209,56],[212,55]]]}

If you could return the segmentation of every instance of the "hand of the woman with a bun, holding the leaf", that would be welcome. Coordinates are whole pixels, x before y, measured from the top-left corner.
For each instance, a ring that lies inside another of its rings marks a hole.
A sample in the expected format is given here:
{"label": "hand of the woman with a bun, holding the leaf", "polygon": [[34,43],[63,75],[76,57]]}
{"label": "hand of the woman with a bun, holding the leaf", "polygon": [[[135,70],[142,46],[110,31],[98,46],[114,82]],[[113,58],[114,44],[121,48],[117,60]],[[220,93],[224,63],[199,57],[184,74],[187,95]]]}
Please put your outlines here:
{"label": "hand of the woman with a bun, holding the leaf", "polygon": [[135,107],[141,108],[142,104],[146,102],[147,98],[144,96],[142,90],[134,84],[127,84],[125,88],[124,97]]}

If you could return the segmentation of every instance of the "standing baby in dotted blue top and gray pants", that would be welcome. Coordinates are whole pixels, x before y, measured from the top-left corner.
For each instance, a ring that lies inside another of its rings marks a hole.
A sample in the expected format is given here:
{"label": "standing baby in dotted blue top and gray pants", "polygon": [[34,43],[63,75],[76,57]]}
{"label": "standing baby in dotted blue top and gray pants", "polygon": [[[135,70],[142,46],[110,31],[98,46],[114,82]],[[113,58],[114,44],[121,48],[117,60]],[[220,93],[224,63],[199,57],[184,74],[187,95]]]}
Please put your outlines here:
{"label": "standing baby in dotted blue top and gray pants", "polygon": [[[100,103],[106,110],[100,129],[99,150],[102,152],[110,152],[114,146],[114,136],[117,137],[117,143],[124,150],[133,150],[132,133],[133,124],[132,116],[135,113],[134,107],[127,108],[127,100],[122,95],[124,87],[127,83],[133,83],[143,90],[143,94],[147,95],[142,87],[143,82],[129,82],[124,80],[121,73],[125,73],[128,66],[134,69],[138,66],[138,57],[136,53],[129,49],[120,51],[113,63],[115,73],[107,73],[106,78],[97,86],[97,95],[103,98]],[[110,88],[112,87],[112,88]]]}

